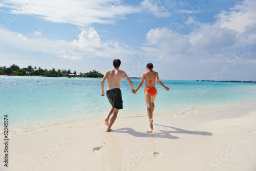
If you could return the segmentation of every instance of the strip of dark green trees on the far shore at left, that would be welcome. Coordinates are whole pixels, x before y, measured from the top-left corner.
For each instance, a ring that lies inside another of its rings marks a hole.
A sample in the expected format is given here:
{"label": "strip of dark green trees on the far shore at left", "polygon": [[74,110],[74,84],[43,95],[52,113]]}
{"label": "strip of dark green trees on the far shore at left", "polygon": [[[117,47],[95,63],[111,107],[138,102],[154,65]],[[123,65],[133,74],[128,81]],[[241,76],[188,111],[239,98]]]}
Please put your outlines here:
{"label": "strip of dark green trees on the far shore at left", "polygon": [[46,76],[46,77],[87,77],[87,78],[102,78],[104,75],[98,71],[90,71],[87,73],[78,73],[71,70],[60,70],[57,71],[53,68],[52,70],[41,69],[40,67],[28,66],[27,68],[20,69],[17,65],[13,64],[9,68],[6,66],[0,66],[0,75],[19,75],[19,76]]}

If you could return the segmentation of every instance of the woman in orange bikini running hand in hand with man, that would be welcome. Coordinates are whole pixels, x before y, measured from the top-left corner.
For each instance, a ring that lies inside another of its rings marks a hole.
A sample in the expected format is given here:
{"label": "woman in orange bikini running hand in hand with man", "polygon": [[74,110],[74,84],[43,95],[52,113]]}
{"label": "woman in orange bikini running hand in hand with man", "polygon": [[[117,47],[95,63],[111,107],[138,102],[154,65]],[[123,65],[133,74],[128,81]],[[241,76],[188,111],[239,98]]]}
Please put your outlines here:
{"label": "woman in orange bikini running hand in hand with man", "polygon": [[164,86],[164,84],[160,81],[158,77],[158,73],[153,71],[153,64],[147,63],[146,65],[146,72],[143,73],[140,84],[138,88],[135,90],[135,93],[141,88],[144,80],[145,80],[145,89],[144,89],[144,98],[147,106],[147,115],[150,119],[150,127],[151,130],[153,130],[153,112],[155,109],[154,100],[157,97],[157,89],[156,81],[167,91],[169,91],[169,88]]}

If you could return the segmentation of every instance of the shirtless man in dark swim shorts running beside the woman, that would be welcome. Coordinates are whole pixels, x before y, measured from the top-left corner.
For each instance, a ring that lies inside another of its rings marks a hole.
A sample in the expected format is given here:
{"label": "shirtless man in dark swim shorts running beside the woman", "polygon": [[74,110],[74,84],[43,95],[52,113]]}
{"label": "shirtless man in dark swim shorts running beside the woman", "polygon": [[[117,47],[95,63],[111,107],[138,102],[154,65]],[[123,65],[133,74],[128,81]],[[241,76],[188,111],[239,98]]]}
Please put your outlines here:
{"label": "shirtless man in dark swim shorts running beside the woman", "polygon": [[[127,77],[126,73],[119,70],[119,67],[121,65],[120,59],[114,59],[113,60],[113,66],[114,69],[109,70],[105,73],[104,77],[101,80],[101,96],[104,96],[104,82],[106,79],[108,79],[108,87],[106,88],[106,96],[108,97],[110,104],[112,105],[112,108],[109,111],[108,117],[105,119],[105,124],[108,126],[108,129],[106,132],[110,132],[111,126],[115,122],[118,114],[119,109],[123,109],[123,101],[122,101],[122,94],[120,90],[120,83],[122,77],[124,77],[130,84],[130,87],[132,89],[132,93],[135,94],[135,90],[133,88],[133,82],[129,77]],[[113,116],[110,119],[110,116],[113,114]],[[109,122],[110,119],[110,122]]]}

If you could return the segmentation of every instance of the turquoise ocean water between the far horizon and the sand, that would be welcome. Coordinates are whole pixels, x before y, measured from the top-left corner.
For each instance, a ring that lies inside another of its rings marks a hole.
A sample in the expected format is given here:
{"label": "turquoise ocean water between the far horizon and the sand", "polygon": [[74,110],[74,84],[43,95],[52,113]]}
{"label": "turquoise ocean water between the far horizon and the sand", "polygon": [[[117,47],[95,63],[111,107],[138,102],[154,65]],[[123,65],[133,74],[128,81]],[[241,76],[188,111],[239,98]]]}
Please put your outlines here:
{"label": "turquoise ocean water between the far horizon and the sand", "polygon": [[[81,126],[108,114],[111,105],[101,97],[101,79],[0,76],[0,123],[8,115],[13,134]],[[132,79],[136,89],[140,79]],[[256,102],[256,83],[162,80],[158,83],[154,115],[184,115],[202,108]],[[106,91],[105,81],[105,91]],[[121,81],[123,109],[119,118],[146,116],[144,86],[132,94]],[[79,122],[80,121],[80,122]],[[0,137],[3,136],[3,126]]]}

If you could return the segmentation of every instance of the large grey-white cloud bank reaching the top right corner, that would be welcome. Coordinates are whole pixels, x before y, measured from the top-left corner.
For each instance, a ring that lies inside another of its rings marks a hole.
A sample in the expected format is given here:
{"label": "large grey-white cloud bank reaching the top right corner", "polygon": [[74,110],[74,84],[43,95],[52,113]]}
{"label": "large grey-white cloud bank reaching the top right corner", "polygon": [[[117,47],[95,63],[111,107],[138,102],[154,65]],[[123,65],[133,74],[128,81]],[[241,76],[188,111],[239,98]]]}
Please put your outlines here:
{"label": "large grey-white cloud bank reaching the top right corner", "polygon": [[[163,60],[178,57],[223,60],[229,51],[236,49],[242,53],[245,46],[248,50],[244,55],[251,55],[252,44],[256,41],[255,5],[255,1],[245,0],[231,8],[232,11],[220,12],[214,24],[200,23],[195,17],[189,17],[186,24],[193,30],[186,35],[166,27],[151,29],[146,34],[147,44],[141,49],[147,56]],[[241,60],[246,60],[244,57]]]}

